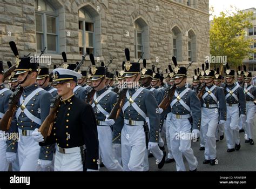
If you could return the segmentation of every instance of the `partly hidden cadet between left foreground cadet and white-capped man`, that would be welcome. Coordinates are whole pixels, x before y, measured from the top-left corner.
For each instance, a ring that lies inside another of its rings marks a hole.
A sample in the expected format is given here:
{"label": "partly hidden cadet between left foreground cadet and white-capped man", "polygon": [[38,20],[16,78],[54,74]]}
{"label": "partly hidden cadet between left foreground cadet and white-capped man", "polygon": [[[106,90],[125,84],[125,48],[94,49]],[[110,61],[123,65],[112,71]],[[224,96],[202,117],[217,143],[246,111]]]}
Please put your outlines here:
{"label": "partly hidden cadet between left foreground cadet and white-capped man", "polygon": [[41,66],[39,70],[40,71],[37,75],[37,83],[39,87],[41,87],[47,92],[50,92],[52,96],[55,97],[57,95],[57,89],[55,87],[52,87],[49,84],[49,81],[50,81],[49,68],[46,68],[45,66]]}

